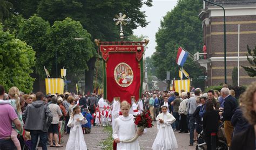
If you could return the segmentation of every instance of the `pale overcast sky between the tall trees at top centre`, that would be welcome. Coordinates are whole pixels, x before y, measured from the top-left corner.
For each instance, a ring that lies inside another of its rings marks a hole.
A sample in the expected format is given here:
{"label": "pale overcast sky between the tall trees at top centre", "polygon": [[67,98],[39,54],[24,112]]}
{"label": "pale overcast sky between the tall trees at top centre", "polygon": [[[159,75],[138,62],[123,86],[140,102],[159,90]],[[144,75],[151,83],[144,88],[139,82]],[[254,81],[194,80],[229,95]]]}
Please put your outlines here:
{"label": "pale overcast sky between the tall trees at top centre", "polygon": [[[151,56],[155,52],[155,47],[157,46],[155,35],[160,27],[160,20],[166,15],[168,11],[171,11],[177,4],[177,0],[153,0],[153,6],[147,7],[143,6],[142,11],[146,12],[146,20],[150,22],[146,27],[138,27],[133,30],[135,35],[146,35],[149,37],[149,44],[145,52],[145,56]],[[128,16],[129,17],[129,16]]]}

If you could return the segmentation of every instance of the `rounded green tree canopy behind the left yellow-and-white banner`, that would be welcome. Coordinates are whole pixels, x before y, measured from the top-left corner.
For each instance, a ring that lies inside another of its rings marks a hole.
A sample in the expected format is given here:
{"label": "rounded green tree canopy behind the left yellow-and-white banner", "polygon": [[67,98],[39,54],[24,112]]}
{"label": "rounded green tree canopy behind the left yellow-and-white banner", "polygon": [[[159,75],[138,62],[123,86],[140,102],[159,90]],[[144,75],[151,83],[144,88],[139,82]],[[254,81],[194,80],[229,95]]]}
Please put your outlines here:
{"label": "rounded green tree canopy behind the left yellow-and-white banner", "polygon": [[55,52],[57,52],[58,70],[65,66],[70,73],[79,73],[88,69],[86,62],[96,53],[91,35],[79,22],[71,18],[56,21],[51,27],[49,40],[43,54],[42,65],[48,66],[51,73],[56,73]]}

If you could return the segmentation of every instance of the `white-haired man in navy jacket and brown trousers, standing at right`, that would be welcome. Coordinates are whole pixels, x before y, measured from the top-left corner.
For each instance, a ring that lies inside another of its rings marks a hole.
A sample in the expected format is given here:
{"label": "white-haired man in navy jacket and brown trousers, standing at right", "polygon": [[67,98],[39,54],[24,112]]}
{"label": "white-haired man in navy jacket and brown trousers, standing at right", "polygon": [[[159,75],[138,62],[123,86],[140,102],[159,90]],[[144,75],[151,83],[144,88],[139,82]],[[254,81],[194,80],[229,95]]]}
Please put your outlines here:
{"label": "white-haired man in navy jacket and brown trousers, standing at right", "polygon": [[222,88],[220,90],[220,95],[224,99],[224,111],[219,112],[219,115],[223,116],[224,118],[224,130],[226,134],[227,145],[230,147],[232,133],[234,130],[230,120],[234,114],[235,108],[237,108],[237,99],[230,95],[230,90],[228,88]]}

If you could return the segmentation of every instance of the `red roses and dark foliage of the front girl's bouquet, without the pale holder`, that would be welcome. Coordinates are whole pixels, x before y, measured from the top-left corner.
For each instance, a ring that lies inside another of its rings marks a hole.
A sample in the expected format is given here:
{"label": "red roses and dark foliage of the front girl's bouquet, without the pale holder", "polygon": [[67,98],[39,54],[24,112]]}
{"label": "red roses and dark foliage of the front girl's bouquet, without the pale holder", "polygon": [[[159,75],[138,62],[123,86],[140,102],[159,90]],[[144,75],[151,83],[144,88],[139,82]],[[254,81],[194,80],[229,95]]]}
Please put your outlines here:
{"label": "red roses and dark foliage of the front girl's bouquet, without the pale holder", "polygon": [[140,115],[134,115],[134,123],[138,127],[150,128],[152,127],[152,119],[150,117],[150,111],[143,111]]}

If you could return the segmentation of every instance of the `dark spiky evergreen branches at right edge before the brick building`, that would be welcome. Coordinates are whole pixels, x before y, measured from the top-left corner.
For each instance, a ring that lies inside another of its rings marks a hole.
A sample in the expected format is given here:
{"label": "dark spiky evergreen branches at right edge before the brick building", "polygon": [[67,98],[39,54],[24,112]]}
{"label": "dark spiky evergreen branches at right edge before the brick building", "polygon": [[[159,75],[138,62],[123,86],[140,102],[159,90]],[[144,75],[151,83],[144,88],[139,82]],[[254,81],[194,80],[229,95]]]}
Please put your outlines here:
{"label": "dark spiky evergreen branches at right edge before the brick building", "polygon": [[249,58],[248,54],[246,54],[247,60],[251,64],[251,66],[249,66],[249,67],[242,66],[242,68],[244,68],[246,70],[248,76],[254,77],[254,76],[256,76],[256,59],[255,59],[256,58],[256,46],[253,49],[253,53],[248,45],[247,45],[247,50],[248,50],[248,54],[251,56],[251,58]]}

